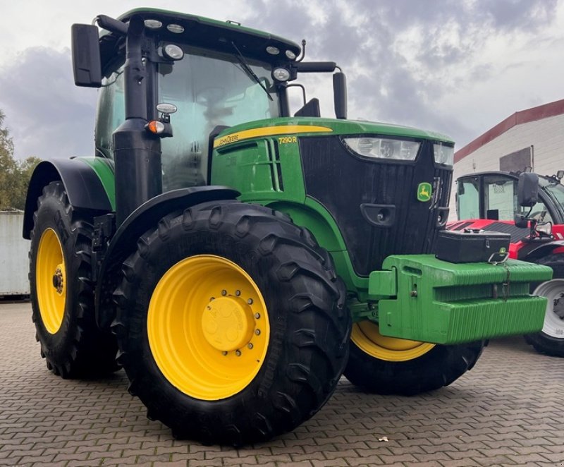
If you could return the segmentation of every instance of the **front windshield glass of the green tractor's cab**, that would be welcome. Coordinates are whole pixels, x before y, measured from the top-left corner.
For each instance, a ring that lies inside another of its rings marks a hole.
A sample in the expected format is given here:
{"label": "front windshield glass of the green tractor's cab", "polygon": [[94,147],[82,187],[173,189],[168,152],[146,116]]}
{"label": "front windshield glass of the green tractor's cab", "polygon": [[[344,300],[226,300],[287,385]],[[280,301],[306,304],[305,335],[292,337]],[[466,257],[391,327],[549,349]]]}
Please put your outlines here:
{"label": "front windshield glass of the green tractor's cab", "polygon": [[178,108],[171,115],[173,137],[161,140],[164,191],[207,183],[214,129],[280,115],[268,64],[241,63],[235,49],[182,48],[182,60],[158,68],[158,101]]}

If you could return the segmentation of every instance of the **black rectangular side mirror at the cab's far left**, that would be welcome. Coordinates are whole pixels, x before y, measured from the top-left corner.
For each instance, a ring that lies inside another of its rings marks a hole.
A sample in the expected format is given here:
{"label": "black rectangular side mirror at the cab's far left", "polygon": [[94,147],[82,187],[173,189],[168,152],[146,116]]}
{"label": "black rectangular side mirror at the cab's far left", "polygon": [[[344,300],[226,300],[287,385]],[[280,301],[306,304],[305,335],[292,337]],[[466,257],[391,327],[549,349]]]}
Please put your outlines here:
{"label": "black rectangular side mirror at the cab's far left", "polygon": [[100,87],[102,85],[102,62],[98,28],[93,25],[73,24],[73,73],[75,85]]}

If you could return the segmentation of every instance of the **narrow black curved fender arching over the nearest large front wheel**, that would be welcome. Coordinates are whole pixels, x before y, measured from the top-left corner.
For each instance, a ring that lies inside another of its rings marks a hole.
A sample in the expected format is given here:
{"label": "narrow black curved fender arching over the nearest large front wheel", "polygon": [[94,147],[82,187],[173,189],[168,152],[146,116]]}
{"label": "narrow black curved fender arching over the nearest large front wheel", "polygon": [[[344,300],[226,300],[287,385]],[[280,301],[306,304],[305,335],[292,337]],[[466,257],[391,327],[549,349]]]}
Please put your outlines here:
{"label": "narrow black curved fender arching over the nearest large front wheel", "polygon": [[237,190],[226,186],[197,186],[172,190],[155,196],[137,207],[118,227],[109,243],[100,268],[96,286],[96,321],[102,329],[108,329],[116,314],[112,294],[121,279],[123,261],[137,248],[137,240],[148,229],[157,225],[166,214],[201,202],[235,200]]}

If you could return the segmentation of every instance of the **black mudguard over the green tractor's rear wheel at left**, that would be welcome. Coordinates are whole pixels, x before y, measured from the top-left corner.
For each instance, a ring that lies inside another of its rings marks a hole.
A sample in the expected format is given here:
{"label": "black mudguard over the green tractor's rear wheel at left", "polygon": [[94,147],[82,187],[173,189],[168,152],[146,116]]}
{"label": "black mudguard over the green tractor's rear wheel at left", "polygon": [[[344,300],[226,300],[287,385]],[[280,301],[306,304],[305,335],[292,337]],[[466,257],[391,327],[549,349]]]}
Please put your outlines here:
{"label": "black mudguard over the green tractor's rear wheel at left", "polygon": [[57,180],[63,182],[68,202],[75,209],[90,210],[97,214],[111,211],[106,190],[91,166],[79,158],[46,160],[35,167],[27,188],[23,238],[30,239],[33,213],[37,210],[37,198],[41,196],[43,187]]}

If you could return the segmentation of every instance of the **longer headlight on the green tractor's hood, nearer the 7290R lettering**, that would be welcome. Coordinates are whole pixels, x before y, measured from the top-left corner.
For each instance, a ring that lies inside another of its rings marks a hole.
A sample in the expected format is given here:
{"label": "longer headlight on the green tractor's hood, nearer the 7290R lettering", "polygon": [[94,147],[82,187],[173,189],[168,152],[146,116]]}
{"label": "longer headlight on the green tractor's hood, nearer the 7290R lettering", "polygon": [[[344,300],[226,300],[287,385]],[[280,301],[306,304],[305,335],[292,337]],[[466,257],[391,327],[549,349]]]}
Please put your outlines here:
{"label": "longer headlight on the green tractor's hood, nearer the 7290R lettering", "polygon": [[343,138],[345,145],[360,156],[413,161],[421,143],[384,138]]}

